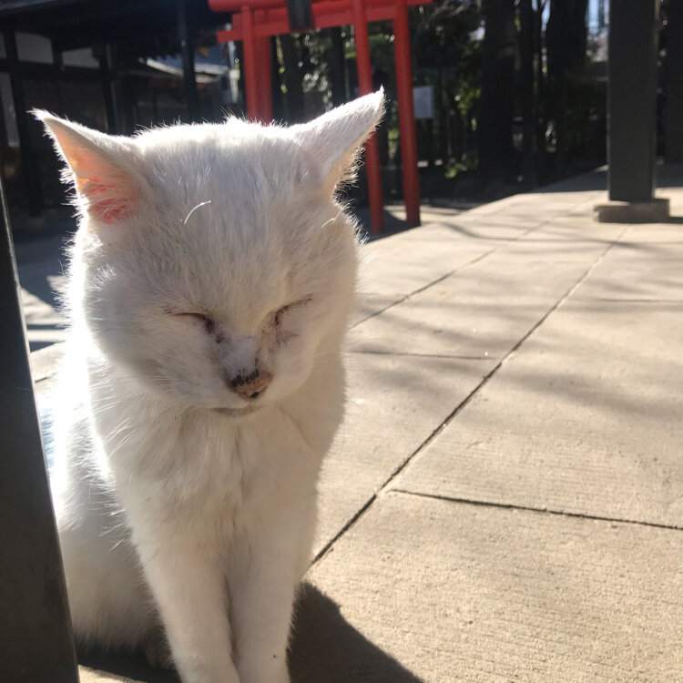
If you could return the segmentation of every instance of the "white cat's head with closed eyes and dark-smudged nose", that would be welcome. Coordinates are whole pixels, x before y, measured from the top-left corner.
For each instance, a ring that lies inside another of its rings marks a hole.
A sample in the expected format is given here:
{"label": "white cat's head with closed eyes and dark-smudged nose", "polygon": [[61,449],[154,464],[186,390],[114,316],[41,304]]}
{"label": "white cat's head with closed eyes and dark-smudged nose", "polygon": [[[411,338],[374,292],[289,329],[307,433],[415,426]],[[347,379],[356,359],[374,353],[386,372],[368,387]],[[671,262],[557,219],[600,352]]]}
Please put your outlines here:
{"label": "white cat's head with closed eyes and dark-smudged nose", "polygon": [[229,414],[301,387],[346,325],[356,239],[334,193],[382,93],[301,126],[230,118],[133,138],[36,114],[81,216],[72,314],[108,361]]}

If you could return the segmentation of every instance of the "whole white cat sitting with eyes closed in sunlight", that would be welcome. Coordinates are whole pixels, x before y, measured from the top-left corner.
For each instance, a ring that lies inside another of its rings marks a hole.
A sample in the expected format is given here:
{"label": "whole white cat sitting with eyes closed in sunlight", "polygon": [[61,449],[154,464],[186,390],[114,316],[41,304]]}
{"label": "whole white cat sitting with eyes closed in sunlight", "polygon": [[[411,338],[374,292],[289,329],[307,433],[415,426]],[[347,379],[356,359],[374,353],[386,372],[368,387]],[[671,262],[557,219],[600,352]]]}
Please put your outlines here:
{"label": "whole white cat sitting with eyes closed in sunlight", "polygon": [[165,634],[184,683],[289,680],[356,276],[334,192],[381,112],[134,138],[36,112],[81,214],[53,495],[82,641]]}

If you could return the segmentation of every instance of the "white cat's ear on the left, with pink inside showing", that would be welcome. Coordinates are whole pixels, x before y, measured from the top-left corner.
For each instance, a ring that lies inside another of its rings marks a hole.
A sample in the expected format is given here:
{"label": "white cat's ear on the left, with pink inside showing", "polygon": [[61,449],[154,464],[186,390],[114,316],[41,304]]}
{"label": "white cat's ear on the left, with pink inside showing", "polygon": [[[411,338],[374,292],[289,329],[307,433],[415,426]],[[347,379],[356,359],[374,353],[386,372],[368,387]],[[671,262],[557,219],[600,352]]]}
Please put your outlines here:
{"label": "white cat's ear on the left, with pink inside showing", "polygon": [[97,224],[115,224],[138,211],[141,178],[127,160],[126,138],[113,138],[46,111],[34,110],[66,161],[64,178],[73,183],[78,204]]}

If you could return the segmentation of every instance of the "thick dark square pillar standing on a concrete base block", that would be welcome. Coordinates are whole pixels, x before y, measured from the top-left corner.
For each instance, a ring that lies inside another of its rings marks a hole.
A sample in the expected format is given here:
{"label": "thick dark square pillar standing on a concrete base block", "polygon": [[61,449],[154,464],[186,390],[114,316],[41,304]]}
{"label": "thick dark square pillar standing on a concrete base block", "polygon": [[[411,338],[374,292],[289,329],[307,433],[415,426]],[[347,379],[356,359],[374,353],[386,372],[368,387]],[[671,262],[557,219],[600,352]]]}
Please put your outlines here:
{"label": "thick dark square pillar standing on a concrete base block", "polygon": [[659,0],[609,4],[609,199],[654,199]]}

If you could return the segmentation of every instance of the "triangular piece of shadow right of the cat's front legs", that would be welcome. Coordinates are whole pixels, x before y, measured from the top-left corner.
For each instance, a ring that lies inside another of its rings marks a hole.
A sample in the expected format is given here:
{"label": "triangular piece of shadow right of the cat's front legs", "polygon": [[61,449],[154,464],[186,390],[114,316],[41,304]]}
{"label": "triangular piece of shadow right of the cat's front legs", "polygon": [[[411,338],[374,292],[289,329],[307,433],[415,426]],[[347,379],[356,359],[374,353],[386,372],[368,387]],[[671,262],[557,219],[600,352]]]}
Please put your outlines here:
{"label": "triangular piece of shadow right of the cat's front legs", "polygon": [[292,683],[422,683],[342,617],[339,606],[303,584],[290,647]]}

